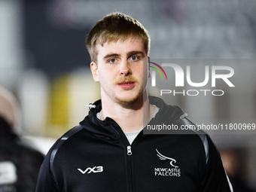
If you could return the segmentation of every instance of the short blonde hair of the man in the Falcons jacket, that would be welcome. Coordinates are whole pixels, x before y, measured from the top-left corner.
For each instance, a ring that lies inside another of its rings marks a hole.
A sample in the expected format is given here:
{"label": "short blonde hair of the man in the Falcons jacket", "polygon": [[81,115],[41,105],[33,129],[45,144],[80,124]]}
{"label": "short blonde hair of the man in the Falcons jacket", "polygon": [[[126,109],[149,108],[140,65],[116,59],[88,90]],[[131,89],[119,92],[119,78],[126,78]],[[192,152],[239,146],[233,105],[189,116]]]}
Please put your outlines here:
{"label": "short blonde hair of the man in the Falcons jacket", "polygon": [[118,12],[106,15],[93,26],[87,35],[86,47],[90,53],[90,59],[97,63],[97,44],[103,46],[106,41],[125,41],[130,37],[141,38],[145,52],[149,53],[151,39],[142,23],[133,17]]}

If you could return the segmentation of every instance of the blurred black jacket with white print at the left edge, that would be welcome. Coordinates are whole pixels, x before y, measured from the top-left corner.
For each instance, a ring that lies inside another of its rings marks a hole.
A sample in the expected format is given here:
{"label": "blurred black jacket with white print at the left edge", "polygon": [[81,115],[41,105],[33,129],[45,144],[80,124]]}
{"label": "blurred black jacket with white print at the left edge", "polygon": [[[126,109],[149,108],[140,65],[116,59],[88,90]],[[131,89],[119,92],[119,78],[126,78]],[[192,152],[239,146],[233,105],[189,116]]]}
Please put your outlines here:
{"label": "blurred black jacket with white print at the left edge", "polygon": [[0,192],[34,192],[44,155],[21,142],[0,117]]}

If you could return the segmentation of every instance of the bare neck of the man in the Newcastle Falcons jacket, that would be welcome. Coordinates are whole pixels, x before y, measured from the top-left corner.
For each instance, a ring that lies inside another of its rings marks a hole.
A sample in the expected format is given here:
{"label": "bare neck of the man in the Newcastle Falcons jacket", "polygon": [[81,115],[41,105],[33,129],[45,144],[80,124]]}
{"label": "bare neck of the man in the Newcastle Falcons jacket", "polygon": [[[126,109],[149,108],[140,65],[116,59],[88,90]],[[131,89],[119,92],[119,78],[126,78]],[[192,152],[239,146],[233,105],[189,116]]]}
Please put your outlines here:
{"label": "bare neck of the man in the Newcastle Falcons jacket", "polygon": [[102,98],[102,120],[111,117],[121,127],[123,132],[142,130],[154,116],[154,106],[148,102],[145,94],[130,105],[123,105]]}

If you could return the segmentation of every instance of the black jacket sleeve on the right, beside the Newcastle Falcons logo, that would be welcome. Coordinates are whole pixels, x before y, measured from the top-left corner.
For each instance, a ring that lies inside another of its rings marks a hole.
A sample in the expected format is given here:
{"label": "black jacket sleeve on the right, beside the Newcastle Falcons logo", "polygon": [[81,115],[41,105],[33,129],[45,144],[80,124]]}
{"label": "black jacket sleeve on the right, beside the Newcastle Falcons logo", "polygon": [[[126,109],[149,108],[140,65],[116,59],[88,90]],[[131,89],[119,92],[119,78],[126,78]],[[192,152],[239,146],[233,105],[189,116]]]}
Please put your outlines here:
{"label": "black jacket sleeve on the right, beside the Newcastle Falcons logo", "polygon": [[[203,192],[233,192],[227,174],[222,164],[221,155],[212,139],[206,135],[208,142],[208,160],[206,163],[206,172],[201,182],[201,191]],[[207,154],[206,154],[207,155]]]}

